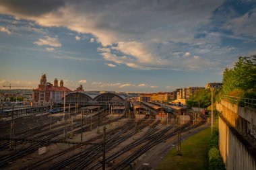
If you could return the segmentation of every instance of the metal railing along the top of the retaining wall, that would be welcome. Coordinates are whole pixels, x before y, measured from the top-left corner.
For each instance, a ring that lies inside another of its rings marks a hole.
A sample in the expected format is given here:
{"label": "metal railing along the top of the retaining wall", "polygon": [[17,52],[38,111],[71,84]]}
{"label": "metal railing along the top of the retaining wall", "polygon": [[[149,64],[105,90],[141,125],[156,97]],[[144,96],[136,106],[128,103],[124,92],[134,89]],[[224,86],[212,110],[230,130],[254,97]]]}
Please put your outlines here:
{"label": "metal railing along the top of the retaining wall", "polygon": [[249,99],[245,97],[236,97],[230,95],[221,95],[221,99],[225,99],[232,104],[237,104],[241,107],[256,108],[256,99]]}

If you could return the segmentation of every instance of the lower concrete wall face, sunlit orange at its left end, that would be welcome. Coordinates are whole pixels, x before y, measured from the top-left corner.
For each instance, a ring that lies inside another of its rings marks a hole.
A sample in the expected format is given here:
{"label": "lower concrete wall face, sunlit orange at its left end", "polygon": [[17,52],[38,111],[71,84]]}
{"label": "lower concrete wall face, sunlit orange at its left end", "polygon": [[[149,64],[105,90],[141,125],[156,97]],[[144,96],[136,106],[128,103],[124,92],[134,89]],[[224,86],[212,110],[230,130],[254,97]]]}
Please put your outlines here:
{"label": "lower concrete wall face, sunlit orange at its left end", "polygon": [[245,145],[230,130],[228,125],[219,118],[219,147],[227,170],[256,170],[255,159],[247,151]]}

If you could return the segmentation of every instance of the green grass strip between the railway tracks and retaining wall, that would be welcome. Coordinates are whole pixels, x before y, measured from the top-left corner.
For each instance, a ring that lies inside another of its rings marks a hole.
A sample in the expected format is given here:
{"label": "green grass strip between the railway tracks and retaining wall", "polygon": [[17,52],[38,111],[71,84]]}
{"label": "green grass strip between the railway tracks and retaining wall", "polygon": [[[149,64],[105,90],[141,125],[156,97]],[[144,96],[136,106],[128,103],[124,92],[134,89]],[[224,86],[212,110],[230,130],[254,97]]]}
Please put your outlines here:
{"label": "green grass strip between the railway tracks and retaining wall", "polygon": [[[218,126],[218,120],[214,126]],[[211,128],[190,136],[181,143],[182,156],[176,155],[176,147],[164,157],[157,169],[208,169],[208,142]]]}

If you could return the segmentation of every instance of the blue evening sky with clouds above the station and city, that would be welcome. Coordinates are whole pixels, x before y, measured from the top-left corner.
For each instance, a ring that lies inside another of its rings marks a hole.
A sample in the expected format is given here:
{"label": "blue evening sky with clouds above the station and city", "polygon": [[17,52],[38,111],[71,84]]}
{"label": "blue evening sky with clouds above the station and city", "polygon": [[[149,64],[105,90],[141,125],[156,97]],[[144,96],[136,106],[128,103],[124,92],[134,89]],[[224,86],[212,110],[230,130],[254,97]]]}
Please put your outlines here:
{"label": "blue evening sky with clouds above the station and city", "polygon": [[204,87],[256,54],[255,26],[253,0],[0,0],[0,89]]}

